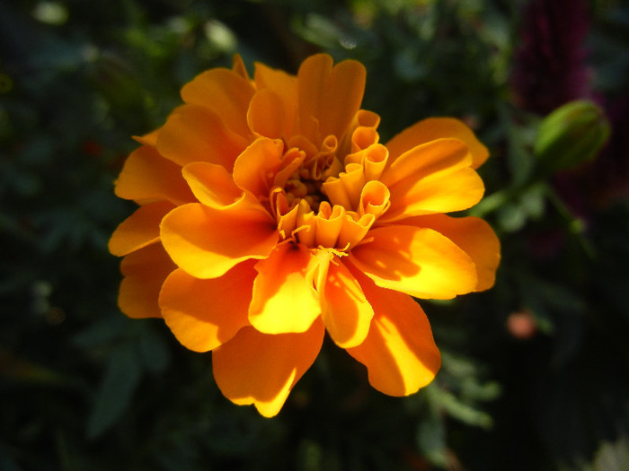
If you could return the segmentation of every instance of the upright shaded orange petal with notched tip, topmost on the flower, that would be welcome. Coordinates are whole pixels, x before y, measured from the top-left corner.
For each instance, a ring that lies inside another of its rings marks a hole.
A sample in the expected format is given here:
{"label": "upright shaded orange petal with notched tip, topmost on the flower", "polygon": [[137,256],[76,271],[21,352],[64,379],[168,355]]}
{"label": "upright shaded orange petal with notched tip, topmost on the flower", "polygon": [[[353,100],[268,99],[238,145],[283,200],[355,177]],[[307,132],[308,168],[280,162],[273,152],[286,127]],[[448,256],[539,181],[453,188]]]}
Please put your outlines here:
{"label": "upright shaded orange petal with notched tip, topmost on the flower", "polygon": [[301,134],[314,138],[312,126],[318,121],[322,137],[344,135],[359,111],[365,77],[365,67],[357,61],[343,61],[332,68],[328,55],[308,57],[297,73]]}

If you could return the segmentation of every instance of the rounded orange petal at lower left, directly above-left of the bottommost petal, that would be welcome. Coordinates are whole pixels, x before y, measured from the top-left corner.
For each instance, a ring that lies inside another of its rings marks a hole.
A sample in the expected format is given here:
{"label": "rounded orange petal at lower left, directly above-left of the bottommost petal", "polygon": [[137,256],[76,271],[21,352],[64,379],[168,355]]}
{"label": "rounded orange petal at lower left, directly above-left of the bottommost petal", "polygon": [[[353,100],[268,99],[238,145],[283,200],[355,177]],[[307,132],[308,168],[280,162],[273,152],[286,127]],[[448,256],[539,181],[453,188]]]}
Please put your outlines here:
{"label": "rounded orange petal at lower left, directly above-left of the bottommost petal", "polygon": [[159,297],[162,317],[183,346],[208,352],[225,344],[249,325],[253,261],[236,265],[225,275],[199,280],[181,268],[166,279]]}

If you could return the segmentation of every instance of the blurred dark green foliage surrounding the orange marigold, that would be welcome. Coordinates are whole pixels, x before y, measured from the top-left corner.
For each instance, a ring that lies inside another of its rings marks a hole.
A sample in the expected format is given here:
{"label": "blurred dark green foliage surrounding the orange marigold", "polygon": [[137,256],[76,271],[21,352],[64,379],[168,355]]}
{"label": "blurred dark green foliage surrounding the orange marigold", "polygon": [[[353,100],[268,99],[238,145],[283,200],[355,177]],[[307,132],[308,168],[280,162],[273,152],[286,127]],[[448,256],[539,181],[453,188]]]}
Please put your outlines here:
{"label": "blurred dark green foliage surrounding the orange marigold", "polygon": [[[629,469],[629,5],[589,3],[572,44],[558,18],[579,2],[535,1],[554,26],[527,60],[525,1],[0,3],[0,469]],[[210,353],[118,310],[106,245],[134,205],[112,182],[195,74],[235,52],[294,73],[316,51],[367,66],[383,141],[429,116],[474,127],[492,158],[472,214],[503,261],[492,291],[422,303],[443,352],[430,387],[385,397],[326,342],[268,420],[221,396]],[[569,98],[597,100],[613,134],[539,179],[553,65],[585,74],[551,98],[580,81]]]}

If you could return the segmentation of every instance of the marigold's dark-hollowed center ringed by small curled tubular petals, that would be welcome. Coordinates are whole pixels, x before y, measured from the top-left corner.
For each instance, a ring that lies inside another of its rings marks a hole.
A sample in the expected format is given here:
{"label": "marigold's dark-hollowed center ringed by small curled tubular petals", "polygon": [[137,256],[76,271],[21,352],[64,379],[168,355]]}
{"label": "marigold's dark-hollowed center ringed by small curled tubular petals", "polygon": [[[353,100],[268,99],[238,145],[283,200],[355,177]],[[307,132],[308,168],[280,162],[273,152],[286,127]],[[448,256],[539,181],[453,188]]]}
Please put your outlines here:
{"label": "marigold's dark-hollowed center ringed by small curled tubular petals", "polygon": [[373,144],[339,155],[333,135],[318,149],[306,139],[285,144],[282,169],[270,191],[270,212],[281,238],[335,253],[356,246],[389,205],[388,189],[377,181],[385,147]]}

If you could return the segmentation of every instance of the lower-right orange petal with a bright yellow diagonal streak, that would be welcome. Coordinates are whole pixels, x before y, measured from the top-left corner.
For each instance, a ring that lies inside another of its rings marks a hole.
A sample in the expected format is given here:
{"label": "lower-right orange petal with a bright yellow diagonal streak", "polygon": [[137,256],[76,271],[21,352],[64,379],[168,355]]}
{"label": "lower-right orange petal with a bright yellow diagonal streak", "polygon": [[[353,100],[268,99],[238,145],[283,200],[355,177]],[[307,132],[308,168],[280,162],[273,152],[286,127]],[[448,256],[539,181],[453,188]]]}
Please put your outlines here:
{"label": "lower-right orange petal with a bright yellow diagonal streak", "polygon": [[390,396],[417,392],[435,378],[441,355],[426,314],[401,292],[378,288],[366,276],[359,283],[374,309],[365,341],[347,351],[367,366],[369,384]]}

